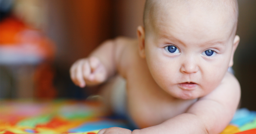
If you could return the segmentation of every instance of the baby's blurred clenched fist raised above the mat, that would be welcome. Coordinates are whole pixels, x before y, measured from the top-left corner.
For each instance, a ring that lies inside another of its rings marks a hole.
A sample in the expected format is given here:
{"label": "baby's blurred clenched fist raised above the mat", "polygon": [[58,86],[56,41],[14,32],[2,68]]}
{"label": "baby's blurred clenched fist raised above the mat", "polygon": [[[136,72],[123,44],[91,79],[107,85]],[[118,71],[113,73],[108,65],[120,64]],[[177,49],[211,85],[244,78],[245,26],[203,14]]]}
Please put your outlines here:
{"label": "baby's blurred clenched fist raised above the mat", "polygon": [[96,57],[76,61],[70,68],[71,80],[79,87],[100,84],[107,79],[104,65]]}

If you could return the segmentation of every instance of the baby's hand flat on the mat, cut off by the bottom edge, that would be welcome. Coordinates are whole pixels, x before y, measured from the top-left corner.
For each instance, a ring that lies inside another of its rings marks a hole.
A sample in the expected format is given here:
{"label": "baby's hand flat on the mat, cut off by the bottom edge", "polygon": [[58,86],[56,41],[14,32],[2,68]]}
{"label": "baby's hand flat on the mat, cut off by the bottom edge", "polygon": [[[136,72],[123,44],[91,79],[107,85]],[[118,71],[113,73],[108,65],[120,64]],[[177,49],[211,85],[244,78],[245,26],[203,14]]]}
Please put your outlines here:
{"label": "baby's hand flat on the mat, cut off by the bottom edge", "polygon": [[98,134],[131,134],[132,131],[129,129],[123,129],[121,127],[110,127],[108,129],[102,129]]}

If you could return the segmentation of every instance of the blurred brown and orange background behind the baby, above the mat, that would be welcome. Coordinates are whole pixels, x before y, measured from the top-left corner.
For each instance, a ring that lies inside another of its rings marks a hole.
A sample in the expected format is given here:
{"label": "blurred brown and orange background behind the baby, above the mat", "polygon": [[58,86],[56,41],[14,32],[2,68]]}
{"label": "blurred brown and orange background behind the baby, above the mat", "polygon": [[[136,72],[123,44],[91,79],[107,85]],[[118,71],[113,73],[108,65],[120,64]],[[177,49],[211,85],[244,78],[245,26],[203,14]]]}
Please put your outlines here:
{"label": "blurred brown and orange background behind the baby, above the mat", "polygon": [[[136,38],[145,0],[0,0],[0,98],[86,99],[70,66],[101,42]],[[241,107],[256,110],[256,1],[238,0],[234,57]]]}

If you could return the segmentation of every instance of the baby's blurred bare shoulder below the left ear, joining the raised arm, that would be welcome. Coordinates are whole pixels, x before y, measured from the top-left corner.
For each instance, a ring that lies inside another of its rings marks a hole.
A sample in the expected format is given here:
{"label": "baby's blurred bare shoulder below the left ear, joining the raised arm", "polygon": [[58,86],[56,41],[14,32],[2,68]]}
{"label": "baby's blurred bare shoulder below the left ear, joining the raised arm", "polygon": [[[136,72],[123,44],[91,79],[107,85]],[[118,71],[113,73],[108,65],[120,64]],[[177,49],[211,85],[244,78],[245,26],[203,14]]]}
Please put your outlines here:
{"label": "baby's blurred bare shoulder below the left ear, joining the raised arm", "polygon": [[116,45],[115,61],[117,66],[117,72],[126,77],[127,68],[132,65],[132,59],[135,58],[137,53],[137,39],[127,37],[117,37],[114,40]]}

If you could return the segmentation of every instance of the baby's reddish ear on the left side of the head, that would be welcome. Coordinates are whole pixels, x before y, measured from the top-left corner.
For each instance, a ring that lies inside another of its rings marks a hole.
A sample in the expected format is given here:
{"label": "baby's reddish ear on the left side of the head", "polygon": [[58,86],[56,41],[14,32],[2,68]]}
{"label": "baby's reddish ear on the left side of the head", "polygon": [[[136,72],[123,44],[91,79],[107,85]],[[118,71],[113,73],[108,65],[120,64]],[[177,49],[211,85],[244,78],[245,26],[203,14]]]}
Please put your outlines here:
{"label": "baby's reddish ear on the left side of the head", "polygon": [[138,37],[138,45],[139,45],[139,55],[142,58],[145,58],[145,30],[144,30],[144,27],[139,26],[137,28],[137,37]]}

